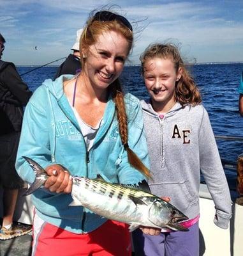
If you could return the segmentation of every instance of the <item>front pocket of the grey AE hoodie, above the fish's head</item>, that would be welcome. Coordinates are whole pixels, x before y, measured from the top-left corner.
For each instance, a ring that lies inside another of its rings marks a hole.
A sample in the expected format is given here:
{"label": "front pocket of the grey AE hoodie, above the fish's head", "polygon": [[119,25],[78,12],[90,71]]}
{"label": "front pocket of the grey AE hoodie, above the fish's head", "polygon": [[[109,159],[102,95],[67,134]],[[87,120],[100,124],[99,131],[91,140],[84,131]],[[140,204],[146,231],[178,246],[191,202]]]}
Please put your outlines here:
{"label": "front pocket of the grey AE hoodie, above the fish's head", "polygon": [[170,204],[177,207],[180,211],[186,212],[189,205],[198,200],[198,195],[189,188],[188,180],[182,182],[163,182],[150,184],[151,191],[159,197],[170,197]]}

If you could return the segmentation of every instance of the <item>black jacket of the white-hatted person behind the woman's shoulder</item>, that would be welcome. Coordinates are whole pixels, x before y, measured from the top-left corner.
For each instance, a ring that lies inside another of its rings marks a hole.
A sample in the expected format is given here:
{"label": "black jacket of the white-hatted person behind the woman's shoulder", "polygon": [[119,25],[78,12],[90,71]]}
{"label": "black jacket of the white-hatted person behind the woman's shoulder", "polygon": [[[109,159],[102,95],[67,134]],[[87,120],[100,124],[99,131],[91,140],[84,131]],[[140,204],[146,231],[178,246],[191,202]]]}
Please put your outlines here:
{"label": "black jacket of the white-hatted person behind the woman's shoulder", "polygon": [[73,54],[69,54],[68,58],[60,65],[55,74],[54,80],[61,75],[75,75],[77,70],[81,68],[80,60]]}

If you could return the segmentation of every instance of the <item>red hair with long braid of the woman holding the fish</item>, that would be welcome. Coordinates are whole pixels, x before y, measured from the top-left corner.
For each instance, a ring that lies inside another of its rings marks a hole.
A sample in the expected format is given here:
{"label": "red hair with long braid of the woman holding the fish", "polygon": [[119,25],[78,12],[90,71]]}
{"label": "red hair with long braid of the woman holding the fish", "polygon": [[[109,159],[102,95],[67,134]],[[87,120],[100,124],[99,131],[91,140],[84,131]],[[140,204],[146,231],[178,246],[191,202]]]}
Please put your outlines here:
{"label": "red hair with long braid of the woman holding the fish", "polygon": [[[94,15],[93,15],[94,16]],[[122,24],[119,20],[93,20],[90,17],[87,20],[86,26],[80,36],[80,56],[82,67],[85,65],[85,58],[82,54],[82,50],[87,50],[92,44],[95,44],[98,40],[98,36],[103,32],[115,31],[120,33],[129,42],[128,54],[133,46],[133,31],[127,26]],[[111,93],[112,99],[115,102],[115,108],[117,113],[117,120],[119,124],[119,134],[121,136],[122,145],[128,154],[128,161],[136,170],[142,172],[146,177],[151,177],[149,170],[142,163],[142,161],[136,156],[136,154],[129,148],[128,145],[128,118],[126,115],[126,108],[124,103],[124,95],[122,93],[121,83],[119,79],[116,79],[112,84],[108,86],[108,92]]]}

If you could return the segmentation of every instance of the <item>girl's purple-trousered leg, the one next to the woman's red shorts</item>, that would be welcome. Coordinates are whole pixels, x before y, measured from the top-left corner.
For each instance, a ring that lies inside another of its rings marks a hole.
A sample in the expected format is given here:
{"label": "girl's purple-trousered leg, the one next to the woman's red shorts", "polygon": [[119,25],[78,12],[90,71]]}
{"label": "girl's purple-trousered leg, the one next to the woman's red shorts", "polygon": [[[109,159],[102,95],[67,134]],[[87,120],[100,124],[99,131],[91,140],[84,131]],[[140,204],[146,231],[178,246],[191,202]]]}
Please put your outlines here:
{"label": "girl's purple-trousered leg, the one next to the woman's red shorts", "polygon": [[135,256],[164,256],[165,234],[159,236],[145,235],[137,228],[133,231],[133,247]]}

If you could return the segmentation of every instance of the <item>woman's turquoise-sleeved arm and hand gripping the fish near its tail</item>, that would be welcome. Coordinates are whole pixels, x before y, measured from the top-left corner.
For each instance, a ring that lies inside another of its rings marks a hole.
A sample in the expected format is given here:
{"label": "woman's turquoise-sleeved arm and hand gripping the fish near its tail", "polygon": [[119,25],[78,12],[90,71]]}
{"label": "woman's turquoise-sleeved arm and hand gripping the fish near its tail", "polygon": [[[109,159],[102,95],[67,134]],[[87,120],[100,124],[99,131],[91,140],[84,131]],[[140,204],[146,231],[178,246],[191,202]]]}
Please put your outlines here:
{"label": "woman's turquoise-sleeved arm and hand gripping the fish near its tail", "polygon": [[45,182],[45,188],[50,192],[70,193],[72,182],[69,173],[63,166],[51,161],[47,100],[47,92],[41,86],[26,106],[15,168],[24,181],[32,184],[35,174],[23,157],[27,156],[40,164],[50,176]]}

